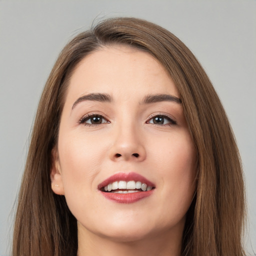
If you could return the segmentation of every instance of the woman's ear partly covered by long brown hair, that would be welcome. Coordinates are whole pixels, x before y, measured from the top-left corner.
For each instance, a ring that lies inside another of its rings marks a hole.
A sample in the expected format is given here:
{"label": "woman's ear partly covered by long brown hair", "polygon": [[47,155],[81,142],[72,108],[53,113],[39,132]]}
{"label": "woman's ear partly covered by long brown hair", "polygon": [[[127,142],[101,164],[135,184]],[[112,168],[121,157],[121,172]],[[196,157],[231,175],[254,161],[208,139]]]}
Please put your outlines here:
{"label": "woman's ear partly covered by long brown hair", "polygon": [[51,150],[51,168],[50,168],[50,180],[51,180],[51,189],[55,194],[65,194],[64,186],[61,175],[61,168],[59,162],[58,150],[54,147]]}

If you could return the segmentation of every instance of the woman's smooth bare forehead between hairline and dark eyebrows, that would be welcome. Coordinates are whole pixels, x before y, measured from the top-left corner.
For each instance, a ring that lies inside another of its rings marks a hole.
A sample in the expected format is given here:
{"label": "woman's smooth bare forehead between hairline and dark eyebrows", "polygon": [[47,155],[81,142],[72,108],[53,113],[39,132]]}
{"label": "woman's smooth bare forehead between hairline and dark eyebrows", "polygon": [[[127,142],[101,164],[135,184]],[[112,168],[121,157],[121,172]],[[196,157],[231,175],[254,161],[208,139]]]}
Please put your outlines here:
{"label": "woman's smooth bare forehead between hairline and dark eyebrows", "polygon": [[122,99],[148,93],[179,96],[170,75],[148,52],[126,45],[101,47],[85,56],[69,80],[67,97],[103,92]]}

